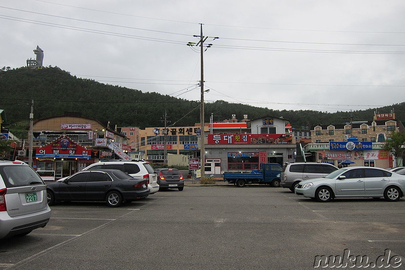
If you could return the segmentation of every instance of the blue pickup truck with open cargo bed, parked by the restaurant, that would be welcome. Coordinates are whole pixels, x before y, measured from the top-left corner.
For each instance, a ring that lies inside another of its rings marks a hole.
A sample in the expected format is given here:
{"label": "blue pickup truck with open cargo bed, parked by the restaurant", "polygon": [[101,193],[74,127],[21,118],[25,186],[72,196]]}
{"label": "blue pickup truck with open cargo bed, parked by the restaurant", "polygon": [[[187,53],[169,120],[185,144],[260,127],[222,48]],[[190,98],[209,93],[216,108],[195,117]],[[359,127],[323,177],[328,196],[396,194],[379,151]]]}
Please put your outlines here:
{"label": "blue pickup truck with open cargo bed, parked by the restaurant", "polygon": [[228,181],[238,187],[249,184],[268,184],[274,187],[280,186],[281,166],[278,163],[262,163],[260,170],[250,172],[224,172],[224,182]]}

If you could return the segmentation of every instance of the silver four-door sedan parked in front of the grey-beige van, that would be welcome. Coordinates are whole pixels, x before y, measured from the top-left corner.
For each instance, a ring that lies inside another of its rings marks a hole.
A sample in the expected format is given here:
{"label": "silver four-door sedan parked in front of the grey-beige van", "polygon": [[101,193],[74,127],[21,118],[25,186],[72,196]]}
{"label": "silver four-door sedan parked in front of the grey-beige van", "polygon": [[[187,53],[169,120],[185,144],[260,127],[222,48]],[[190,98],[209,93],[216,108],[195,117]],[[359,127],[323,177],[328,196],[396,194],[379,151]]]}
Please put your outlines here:
{"label": "silver four-door sedan parked in front of the grey-beige van", "polygon": [[405,192],[405,176],[375,167],[346,167],[325,176],[302,181],[299,196],[329,202],[333,198],[380,198],[398,201]]}

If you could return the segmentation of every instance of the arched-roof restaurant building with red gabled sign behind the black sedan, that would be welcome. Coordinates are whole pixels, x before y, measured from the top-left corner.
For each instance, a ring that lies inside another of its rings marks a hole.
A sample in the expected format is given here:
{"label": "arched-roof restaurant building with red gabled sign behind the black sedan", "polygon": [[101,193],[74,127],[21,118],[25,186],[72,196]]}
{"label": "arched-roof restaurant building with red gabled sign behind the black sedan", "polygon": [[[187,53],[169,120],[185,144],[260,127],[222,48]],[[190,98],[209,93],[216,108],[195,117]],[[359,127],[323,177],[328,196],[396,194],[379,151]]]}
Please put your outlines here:
{"label": "arched-roof restaurant building with red gabled sign behind the black sedan", "polygon": [[99,160],[125,159],[126,140],[109,123],[80,115],[39,119],[33,123],[33,168],[54,171],[55,179],[66,177]]}

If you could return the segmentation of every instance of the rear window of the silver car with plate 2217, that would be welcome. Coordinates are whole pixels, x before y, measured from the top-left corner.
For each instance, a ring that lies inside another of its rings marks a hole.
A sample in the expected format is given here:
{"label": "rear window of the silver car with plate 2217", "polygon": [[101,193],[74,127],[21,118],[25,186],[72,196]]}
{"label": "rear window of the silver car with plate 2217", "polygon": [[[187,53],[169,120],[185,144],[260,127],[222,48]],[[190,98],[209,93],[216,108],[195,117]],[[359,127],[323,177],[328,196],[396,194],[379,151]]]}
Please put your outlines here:
{"label": "rear window of the silver car with plate 2217", "polygon": [[43,184],[41,177],[29,166],[1,166],[0,174],[6,187]]}

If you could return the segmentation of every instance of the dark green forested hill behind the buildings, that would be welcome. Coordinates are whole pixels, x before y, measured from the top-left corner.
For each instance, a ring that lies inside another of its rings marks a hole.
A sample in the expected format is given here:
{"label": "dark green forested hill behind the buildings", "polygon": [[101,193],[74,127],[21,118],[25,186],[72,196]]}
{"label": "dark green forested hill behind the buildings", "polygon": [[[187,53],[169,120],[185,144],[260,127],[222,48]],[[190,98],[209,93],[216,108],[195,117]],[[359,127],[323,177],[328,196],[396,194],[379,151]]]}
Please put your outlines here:
{"label": "dark green forested hill behind the buildings", "polygon": [[[17,69],[0,71],[0,109],[6,111],[10,124],[27,121],[29,106],[21,105],[34,100],[34,120],[62,115],[65,112],[79,112],[83,116],[100,122],[110,121],[117,126],[140,128],[162,126],[161,119],[167,115],[175,126],[192,126],[199,123],[198,103],[161,95],[156,92],[143,93],[119,86],[105,85],[93,80],[79,79],[58,67],[41,69]],[[286,100],[286,102],[288,102]],[[193,110],[193,108],[195,108]],[[405,102],[378,111],[394,109],[396,118],[405,120]],[[374,109],[352,112],[353,121],[372,120]],[[325,113],[315,110],[273,110],[239,103],[216,101],[205,105],[206,122],[211,113],[220,115],[214,120],[224,120],[236,114],[243,119],[257,119],[266,115],[288,119],[294,128],[317,124],[339,124],[347,122],[349,112]],[[222,118],[221,118],[222,117]]]}

